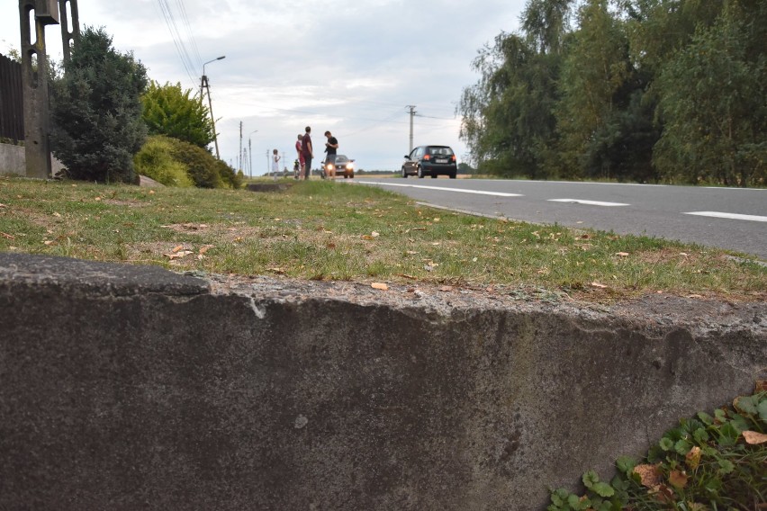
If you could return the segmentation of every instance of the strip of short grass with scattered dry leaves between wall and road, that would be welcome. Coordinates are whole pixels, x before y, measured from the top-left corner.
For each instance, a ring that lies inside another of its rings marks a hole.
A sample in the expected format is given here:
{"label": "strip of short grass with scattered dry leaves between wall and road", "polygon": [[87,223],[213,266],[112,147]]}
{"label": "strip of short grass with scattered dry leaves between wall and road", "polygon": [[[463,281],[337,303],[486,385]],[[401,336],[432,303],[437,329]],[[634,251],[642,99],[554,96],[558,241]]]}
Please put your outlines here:
{"label": "strip of short grass with scattered dry leaves between wall and road", "polygon": [[5,177],[0,204],[0,251],[590,300],[658,291],[767,298],[767,269],[724,250],[438,211],[359,185],[251,193]]}

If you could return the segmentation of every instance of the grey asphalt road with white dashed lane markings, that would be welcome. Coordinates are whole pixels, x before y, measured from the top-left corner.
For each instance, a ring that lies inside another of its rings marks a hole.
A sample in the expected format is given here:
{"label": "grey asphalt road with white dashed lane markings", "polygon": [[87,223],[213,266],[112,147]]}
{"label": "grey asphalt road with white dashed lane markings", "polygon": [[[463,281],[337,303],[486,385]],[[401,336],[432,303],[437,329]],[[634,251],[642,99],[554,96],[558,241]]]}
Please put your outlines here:
{"label": "grey asphalt road with white dashed lane markings", "polygon": [[675,239],[767,260],[767,190],[490,179],[355,181],[458,211]]}

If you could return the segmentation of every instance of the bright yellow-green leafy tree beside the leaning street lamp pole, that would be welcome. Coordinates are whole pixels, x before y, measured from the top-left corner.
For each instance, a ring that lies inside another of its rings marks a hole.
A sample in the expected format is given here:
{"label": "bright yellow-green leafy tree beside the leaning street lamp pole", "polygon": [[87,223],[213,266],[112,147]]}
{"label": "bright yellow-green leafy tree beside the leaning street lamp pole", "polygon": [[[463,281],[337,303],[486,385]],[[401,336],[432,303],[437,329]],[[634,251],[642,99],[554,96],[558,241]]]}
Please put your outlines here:
{"label": "bright yellow-green leafy tree beside the leaning street lamp pole", "polygon": [[213,141],[213,124],[208,108],[190,97],[191,94],[192,90],[183,91],[180,83],[159,85],[151,82],[141,97],[149,134],[165,135],[207,148]]}

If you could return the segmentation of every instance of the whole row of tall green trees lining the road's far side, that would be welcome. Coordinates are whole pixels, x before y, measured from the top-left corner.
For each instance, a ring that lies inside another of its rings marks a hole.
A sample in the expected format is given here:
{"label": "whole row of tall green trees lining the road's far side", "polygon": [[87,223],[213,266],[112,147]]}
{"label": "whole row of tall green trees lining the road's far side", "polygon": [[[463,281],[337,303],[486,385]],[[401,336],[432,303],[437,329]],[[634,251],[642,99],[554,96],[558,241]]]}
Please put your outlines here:
{"label": "whole row of tall green trees lining the road's far side", "polygon": [[767,3],[528,0],[456,112],[483,174],[765,184]]}

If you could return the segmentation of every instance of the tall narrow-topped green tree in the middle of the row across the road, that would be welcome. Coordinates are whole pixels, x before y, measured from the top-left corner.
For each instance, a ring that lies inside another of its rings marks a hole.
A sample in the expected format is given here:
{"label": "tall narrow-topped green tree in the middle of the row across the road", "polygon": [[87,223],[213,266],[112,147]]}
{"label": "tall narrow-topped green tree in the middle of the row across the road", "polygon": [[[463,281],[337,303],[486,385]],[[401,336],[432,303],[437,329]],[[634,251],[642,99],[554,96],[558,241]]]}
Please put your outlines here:
{"label": "tall narrow-topped green tree in the middle of the row across the road", "polygon": [[[640,156],[627,139],[637,141],[634,130],[653,130],[651,113],[641,108],[642,83],[628,59],[624,23],[610,12],[608,0],[585,2],[578,25],[564,59],[556,106],[563,174],[624,179],[638,170],[626,153]],[[650,165],[648,157],[645,165]]]}

